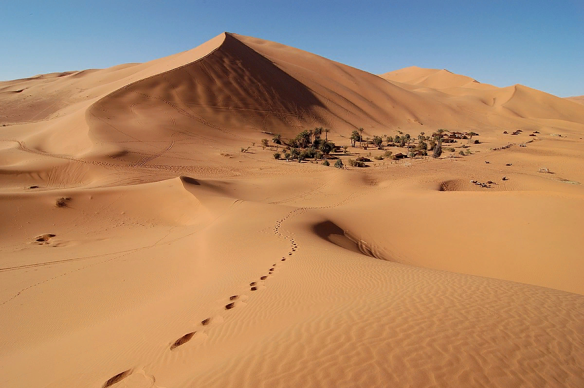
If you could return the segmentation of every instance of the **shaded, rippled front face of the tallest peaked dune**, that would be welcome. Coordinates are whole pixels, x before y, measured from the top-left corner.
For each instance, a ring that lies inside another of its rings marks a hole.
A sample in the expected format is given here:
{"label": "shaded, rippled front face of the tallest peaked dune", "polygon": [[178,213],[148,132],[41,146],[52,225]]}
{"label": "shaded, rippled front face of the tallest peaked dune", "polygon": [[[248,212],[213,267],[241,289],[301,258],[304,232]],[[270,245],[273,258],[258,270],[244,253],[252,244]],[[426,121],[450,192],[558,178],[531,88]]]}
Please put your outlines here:
{"label": "shaded, rippled front face of the tallest peaked dune", "polygon": [[89,109],[93,137],[135,141],[197,137],[238,138],[276,127],[294,132],[324,124],[311,91],[241,41],[223,43],[198,61],[132,83]]}

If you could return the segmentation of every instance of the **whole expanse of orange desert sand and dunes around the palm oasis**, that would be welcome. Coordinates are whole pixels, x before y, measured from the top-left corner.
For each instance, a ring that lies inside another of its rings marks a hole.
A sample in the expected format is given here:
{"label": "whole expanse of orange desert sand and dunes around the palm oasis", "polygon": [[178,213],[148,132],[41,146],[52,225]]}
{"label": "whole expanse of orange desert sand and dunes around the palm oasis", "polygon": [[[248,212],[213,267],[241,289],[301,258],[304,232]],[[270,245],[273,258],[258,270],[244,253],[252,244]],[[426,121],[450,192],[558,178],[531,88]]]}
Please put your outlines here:
{"label": "whole expanse of orange desert sand and dunes around the palm oasis", "polygon": [[0,386],[582,387],[575,101],[232,33],[0,82]]}

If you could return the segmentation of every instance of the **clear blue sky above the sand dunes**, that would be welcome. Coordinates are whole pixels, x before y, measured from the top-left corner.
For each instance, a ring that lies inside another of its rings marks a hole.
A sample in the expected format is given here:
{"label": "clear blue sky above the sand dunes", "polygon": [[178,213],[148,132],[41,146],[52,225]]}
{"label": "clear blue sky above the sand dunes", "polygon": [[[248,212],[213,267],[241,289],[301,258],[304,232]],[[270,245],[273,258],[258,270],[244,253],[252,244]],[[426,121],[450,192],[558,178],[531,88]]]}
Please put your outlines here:
{"label": "clear blue sky above the sand dunes", "polygon": [[149,61],[228,31],[374,74],[416,65],[584,95],[584,0],[0,0],[0,15],[2,80]]}

